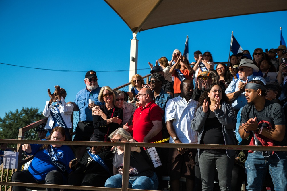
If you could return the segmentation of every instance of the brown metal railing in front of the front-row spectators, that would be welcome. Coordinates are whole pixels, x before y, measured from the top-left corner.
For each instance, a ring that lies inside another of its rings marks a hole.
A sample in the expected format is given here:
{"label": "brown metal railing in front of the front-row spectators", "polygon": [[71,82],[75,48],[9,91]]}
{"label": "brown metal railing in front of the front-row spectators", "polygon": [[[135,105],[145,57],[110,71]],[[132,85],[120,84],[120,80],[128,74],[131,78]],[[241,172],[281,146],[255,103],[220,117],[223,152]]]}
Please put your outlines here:
{"label": "brown metal railing in front of the front-row spectators", "polygon": [[[0,143],[9,143],[22,145],[25,143],[38,144],[39,140],[12,140],[12,139],[0,139]],[[90,186],[68,186],[68,185],[51,185],[51,184],[28,184],[28,183],[13,183],[13,182],[0,182],[0,185],[9,186],[31,186],[41,188],[64,188],[78,190],[133,190],[129,189],[129,163],[131,147],[163,147],[163,148],[200,148],[200,149],[230,149],[230,150],[266,150],[266,151],[286,151],[287,147],[280,146],[247,146],[247,145],[205,145],[205,144],[176,144],[176,143],[123,143],[123,142],[90,142],[90,141],[41,141],[45,144],[61,144],[61,145],[98,145],[98,146],[122,146],[124,150],[124,163],[123,163],[123,182],[122,188],[102,188],[102,187],[90,187]],[[20,149],[19,152],[22,152]],[[6,188],[6,187],[5,187]],[[10,187],[11,189],[11,187]],[[139,190],[137,190],[139,191]]]}

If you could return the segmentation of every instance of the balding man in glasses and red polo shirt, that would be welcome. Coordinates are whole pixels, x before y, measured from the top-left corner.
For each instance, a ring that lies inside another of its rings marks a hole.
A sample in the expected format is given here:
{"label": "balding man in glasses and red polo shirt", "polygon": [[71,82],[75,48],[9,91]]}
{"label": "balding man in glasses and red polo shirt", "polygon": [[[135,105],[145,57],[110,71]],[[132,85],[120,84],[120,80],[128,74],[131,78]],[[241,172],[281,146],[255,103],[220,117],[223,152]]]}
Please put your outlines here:
{"label": "balding man in glasses and red polo shirt", "polygon": [[139,108],[133,114],[133,125],[123,127],[133,131],[133,139],[151,143],[162,140],[163,110],[154,103],[154,94],[149,88],[142,88],[137,95]]}

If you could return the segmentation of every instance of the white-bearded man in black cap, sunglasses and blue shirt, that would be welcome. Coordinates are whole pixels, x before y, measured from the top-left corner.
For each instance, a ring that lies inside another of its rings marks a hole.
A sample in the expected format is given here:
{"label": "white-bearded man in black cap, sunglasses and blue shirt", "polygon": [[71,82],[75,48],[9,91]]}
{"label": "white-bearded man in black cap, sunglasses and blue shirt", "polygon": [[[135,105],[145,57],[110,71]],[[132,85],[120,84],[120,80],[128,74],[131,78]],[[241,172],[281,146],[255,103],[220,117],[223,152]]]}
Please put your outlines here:
{"label": "white-bearded man in black cap, sunglasses and blue shirt", "polygon": [[[79,111],[79,123],[76,127],[76,134],[73,141],[89,141],[94,133],[92,108],[96,105],[103,105],[98,100],[101,87],[98,85],[98,78],[95,71],[86,73],[84,82],[86,87],[79,91],[74,100],[74,111]],[[75,146],[75,157],[79,160],[86,152],[86,146]]]}

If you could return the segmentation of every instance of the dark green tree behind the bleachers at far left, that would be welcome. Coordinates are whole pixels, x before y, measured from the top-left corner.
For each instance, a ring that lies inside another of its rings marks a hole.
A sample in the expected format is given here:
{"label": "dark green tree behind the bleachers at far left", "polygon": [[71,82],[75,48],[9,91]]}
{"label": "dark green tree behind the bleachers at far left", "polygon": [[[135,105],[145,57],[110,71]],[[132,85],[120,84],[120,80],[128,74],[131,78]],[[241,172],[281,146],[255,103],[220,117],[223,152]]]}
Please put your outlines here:
{"label": "dark green tree behind the bleachers at far left", "polygon": [[5,113],[5,117],[0,117],[0,139],[18,139],[19,129],[30,125],[44,116],[39,113],[38,108],[23,107],[21,111]]}

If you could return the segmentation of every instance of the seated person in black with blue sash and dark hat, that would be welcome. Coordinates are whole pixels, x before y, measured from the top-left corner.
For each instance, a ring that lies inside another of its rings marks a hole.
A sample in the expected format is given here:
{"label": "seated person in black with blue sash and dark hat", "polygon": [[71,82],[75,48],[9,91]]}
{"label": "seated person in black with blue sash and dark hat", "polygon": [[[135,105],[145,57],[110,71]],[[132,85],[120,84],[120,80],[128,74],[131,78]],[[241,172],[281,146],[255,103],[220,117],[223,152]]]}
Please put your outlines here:
{"label": "seated person in black with blue sash and dark hat", "polygon": [[[90,141],[104,139],[102,135],[92,134]],[[110,149],[111,147],[93,145],[75,165],[72,165],[71,161],[70,168],[73,173],[69,175],[67,184],[104,187],[106,180],[113,175],[113,153]]]}

